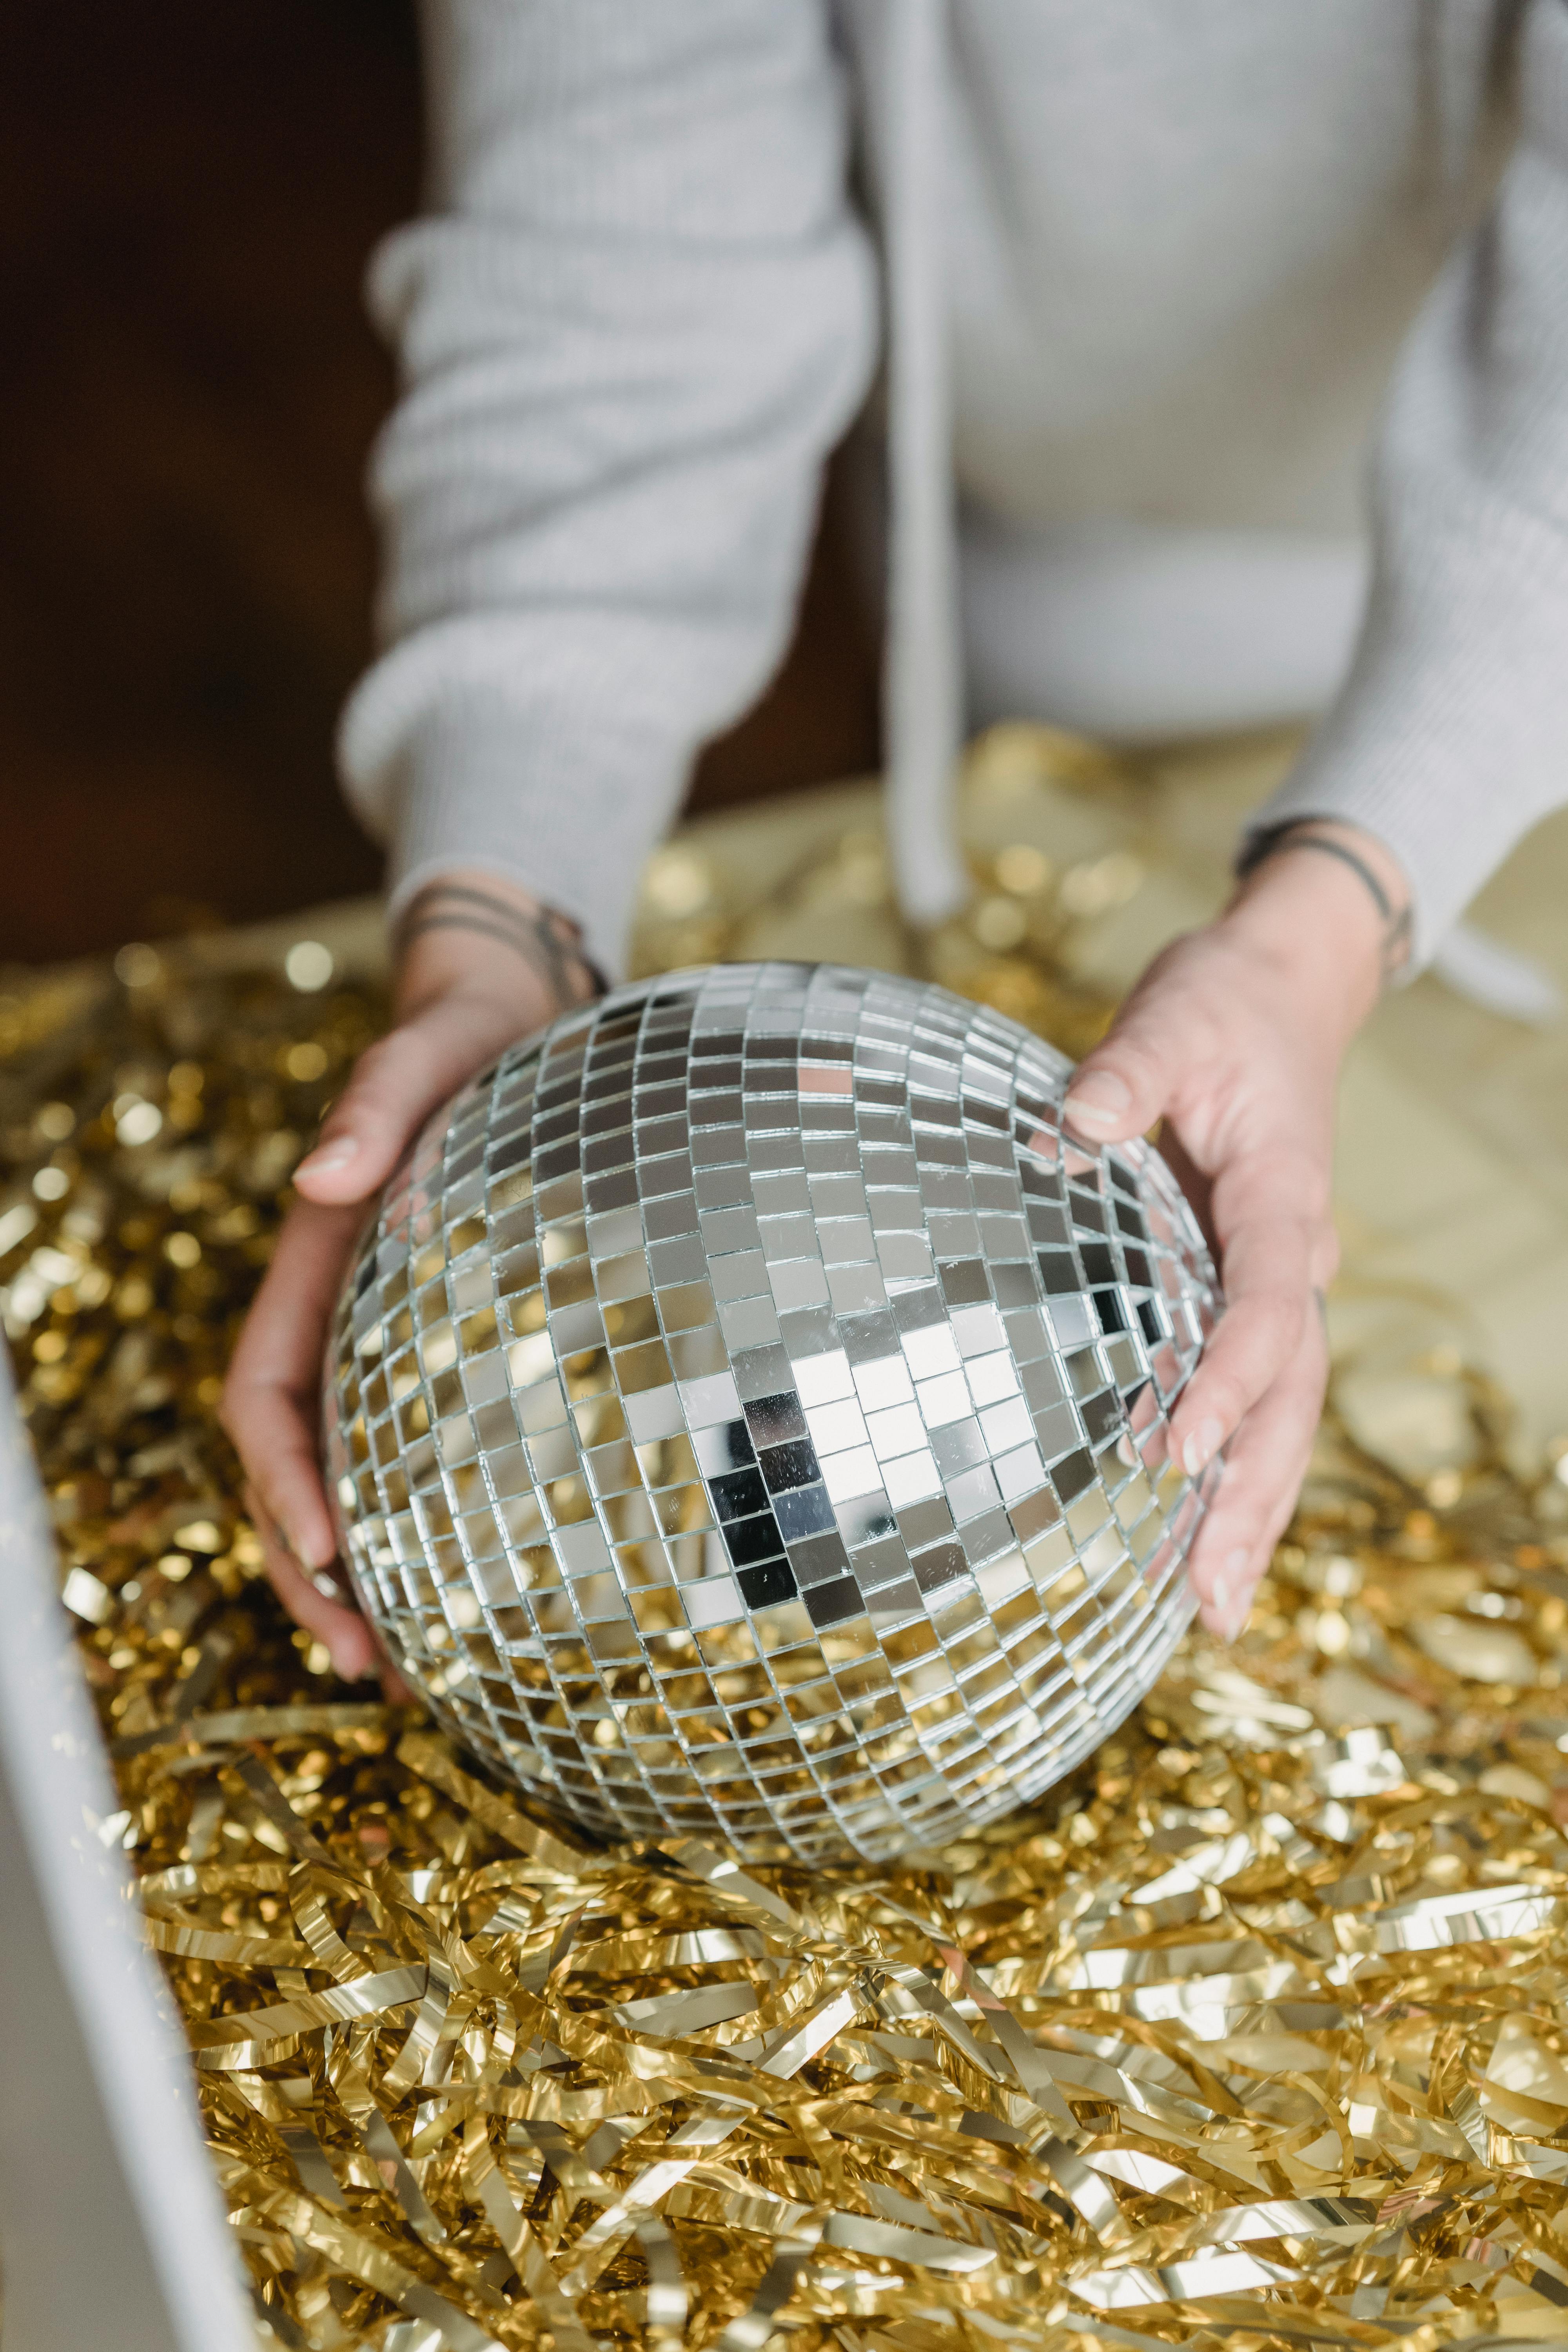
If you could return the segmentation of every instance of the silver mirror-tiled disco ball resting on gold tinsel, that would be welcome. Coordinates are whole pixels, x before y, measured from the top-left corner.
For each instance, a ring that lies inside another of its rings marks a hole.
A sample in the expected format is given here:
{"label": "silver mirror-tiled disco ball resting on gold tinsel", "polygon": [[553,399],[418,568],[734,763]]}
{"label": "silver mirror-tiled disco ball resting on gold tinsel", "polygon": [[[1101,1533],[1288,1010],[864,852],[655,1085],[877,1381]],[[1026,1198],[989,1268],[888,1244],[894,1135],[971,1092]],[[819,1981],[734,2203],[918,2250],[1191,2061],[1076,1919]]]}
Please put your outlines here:
{"label": "silver mirror-tiled disco ball resting on gold tinsel", "polygon": [[[1166,1416],[1218,1310],[1164,1160],[943,988],[722,964],[414,1143],[327,1357],[360,1602],[609,1837],[886,1858],[1039,1795],[1192,1613]],[[1218,1468],[1208,1479],[1218,1477]]]}

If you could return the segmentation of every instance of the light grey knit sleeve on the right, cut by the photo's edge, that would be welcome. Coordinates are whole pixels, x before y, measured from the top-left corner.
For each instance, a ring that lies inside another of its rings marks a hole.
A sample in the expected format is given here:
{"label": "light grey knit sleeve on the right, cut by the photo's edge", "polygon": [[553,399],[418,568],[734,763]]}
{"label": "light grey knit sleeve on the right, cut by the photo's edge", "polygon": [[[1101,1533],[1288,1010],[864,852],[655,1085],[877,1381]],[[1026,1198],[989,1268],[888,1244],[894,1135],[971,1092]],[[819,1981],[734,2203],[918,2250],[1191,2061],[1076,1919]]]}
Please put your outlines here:
{"label": "light grey knit sleeve on the right, cut by the photo's edge", "polygon": [[1533,0],[1497,202],[1425,303],[1373,463],[1356,661],[1251,835],[1340,816],[1415,896],[1415,960],[1568,802],[1568,5]]}

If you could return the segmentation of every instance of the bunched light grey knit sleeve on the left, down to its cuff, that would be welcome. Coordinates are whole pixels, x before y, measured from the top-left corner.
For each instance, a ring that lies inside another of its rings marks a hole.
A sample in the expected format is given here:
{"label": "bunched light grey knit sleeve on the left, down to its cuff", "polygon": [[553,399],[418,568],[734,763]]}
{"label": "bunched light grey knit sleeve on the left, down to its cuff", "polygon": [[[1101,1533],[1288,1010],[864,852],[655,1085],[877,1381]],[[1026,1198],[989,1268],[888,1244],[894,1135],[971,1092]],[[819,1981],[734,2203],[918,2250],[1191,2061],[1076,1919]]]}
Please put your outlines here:
{"label": "bunched light grey knit sleeve on the left, down to its cuff", "polygon": [[783,654],[875,358],[820,0],[425,0],[433,191],[369,275],[386,652],[341,769],[609,971],[698,746]]}

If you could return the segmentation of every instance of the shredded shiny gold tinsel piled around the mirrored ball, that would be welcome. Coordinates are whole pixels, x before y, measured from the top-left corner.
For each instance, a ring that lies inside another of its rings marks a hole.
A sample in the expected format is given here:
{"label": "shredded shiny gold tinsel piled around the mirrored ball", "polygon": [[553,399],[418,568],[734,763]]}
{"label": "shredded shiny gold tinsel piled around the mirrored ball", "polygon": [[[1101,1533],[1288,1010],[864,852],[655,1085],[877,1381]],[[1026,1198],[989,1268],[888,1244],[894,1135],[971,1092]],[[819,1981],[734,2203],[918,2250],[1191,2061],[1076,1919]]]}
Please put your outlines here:
{"label": "shredded shiny gold tinsel piled around the mirrored ball", "polygon": [[[832,856],[797,898],[867,887]],[[1023,920],[945,948],[1037,1011],[1039,884],[1004,863]],[[1465,1449],[1420,1491],[1331,1416],[1239,1646],[1194,1639],[1027,1816],[898,1870],[585,1851],[259,1581],[221,1367],[383,1016],[299,969],[136,948],[0,993],[0,1298],[101,1835],[261,2338],[1568,2338],[1568,1543],[1497,1397],[1425,1367]]]}

